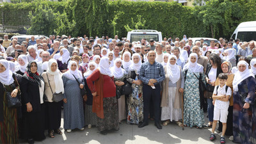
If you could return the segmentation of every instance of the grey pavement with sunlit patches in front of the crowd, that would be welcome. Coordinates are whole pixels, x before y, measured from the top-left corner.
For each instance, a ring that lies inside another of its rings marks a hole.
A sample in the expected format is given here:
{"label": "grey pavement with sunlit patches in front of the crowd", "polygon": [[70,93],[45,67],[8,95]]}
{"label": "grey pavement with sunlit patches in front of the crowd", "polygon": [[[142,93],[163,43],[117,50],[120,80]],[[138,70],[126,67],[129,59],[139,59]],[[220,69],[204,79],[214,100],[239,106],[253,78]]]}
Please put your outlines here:
{"label": "grey pavement with sunlit patches in front of the crowd", "polygon": [[[206,115],[207,113],[205,113]],[[208,122],[205,118],[205,122]],[[218,127],[218,126],[217,126]],[[55,135],[55,138],[49,138],[45,131],[46,139],[44,141],[35,141],[35,143],[106,143],[106,144],[158,144],[158,143],[220,143],[220,136],[216,134],[216,140],[209,141],[211,129],[192,129],[185,127],[184,131],[174,122],[163,129],[159,130],[154,125],[154,121],[150,121],[149,125],[138,128],[138,125],[120,124],[119,131],[111,131],[106,136],[99,133],[96,127],[88,129],[87,127],[80,131],[75,129],[68,133],[63,129],[63,118],[61,119],[61,131],[63,135]],[[232,143],[225,138],[226,143]],[[20,141],[26,143],[26,141]]]}

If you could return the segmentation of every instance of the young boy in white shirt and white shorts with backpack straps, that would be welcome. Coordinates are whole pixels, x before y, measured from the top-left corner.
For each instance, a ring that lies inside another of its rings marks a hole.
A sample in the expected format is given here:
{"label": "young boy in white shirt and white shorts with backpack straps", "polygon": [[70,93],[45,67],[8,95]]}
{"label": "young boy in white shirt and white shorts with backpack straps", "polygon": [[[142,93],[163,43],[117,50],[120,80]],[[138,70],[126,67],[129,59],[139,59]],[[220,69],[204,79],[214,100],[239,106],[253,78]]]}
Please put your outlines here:
{"label": "young boy in white shirt and white shorts with backpack straps", "polygon": [[228,79],[227,74],[219,74],[220,85],[215,86],[212,99],[214,104],[214,114],[213,114],[213,123],[212,123],[212,133],[210,140],[215,140],[216,136],[214,131],[217,125],[217,122],[220,120],[222,122],[222,134],[220,137],[220,143],[225,143],[225,131],[227,129],[227,116],[228,116],[228,107],[229,107],[229,98],[232,95],[231,88],[226,86],[226,81]]}

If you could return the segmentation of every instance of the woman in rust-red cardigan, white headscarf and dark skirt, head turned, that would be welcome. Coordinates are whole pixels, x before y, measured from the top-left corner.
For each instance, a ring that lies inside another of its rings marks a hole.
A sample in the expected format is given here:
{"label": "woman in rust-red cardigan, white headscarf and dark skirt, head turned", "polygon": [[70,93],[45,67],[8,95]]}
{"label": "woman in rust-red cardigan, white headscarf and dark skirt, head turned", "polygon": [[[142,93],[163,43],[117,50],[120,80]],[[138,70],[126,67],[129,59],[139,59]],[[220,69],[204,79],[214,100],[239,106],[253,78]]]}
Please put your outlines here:
{"label": "woman in rust-red cardigan, white headscarf and dark skirt, head turned", "polygon": [[110,70],[109,58],[101,58],[99,68],[86,80],[93,95],[92,111],[98,116],[97,125],[100,133],[105,135],[111,129],[118,131],[116,86]]}

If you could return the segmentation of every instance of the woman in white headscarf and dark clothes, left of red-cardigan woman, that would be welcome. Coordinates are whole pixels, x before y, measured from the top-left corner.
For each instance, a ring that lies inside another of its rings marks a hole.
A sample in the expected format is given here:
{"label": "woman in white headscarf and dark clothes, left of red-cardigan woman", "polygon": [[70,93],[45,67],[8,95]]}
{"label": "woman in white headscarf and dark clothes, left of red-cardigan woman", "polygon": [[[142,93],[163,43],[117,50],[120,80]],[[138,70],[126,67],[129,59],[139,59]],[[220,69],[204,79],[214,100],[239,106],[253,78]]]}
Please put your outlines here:
{"label": "woman in white headscarf and dark clothes, left of red-cardigan woman", "polygon": [[84,86],[87,94],[84,96],[85,108],[84,108],[84,125],[88,125],[88,128],[91,128],[92,125],[97,125],[97,115],[92,112],[92,92],[87,85],[87,77],[90,76],[94,70],[96,70],[96,63],[91,61],[88,65],[88,72],[84,73]]}

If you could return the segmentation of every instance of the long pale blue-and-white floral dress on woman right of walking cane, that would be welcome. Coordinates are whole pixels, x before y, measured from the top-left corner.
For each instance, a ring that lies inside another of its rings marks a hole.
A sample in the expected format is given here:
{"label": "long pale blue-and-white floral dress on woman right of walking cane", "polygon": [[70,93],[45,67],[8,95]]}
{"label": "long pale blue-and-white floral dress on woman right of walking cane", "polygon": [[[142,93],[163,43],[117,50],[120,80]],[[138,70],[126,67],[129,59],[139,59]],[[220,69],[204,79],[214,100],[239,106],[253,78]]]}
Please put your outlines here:
{"label": "long pale blue-and-white floral dress on woman right of walking cane", "polygon": [[[200,77],[199,72],[195,74]],[[188,127],[202,127],[204,124],[204,111],[200,109],[199,81],[196,77],[188,70],[184,84],[184,125]],[[203,75],[202,80],[204,79]]]}

